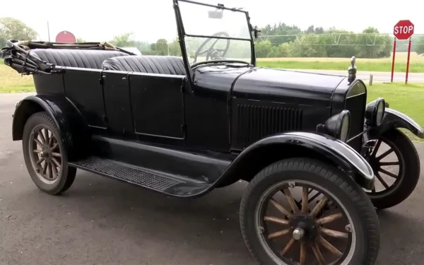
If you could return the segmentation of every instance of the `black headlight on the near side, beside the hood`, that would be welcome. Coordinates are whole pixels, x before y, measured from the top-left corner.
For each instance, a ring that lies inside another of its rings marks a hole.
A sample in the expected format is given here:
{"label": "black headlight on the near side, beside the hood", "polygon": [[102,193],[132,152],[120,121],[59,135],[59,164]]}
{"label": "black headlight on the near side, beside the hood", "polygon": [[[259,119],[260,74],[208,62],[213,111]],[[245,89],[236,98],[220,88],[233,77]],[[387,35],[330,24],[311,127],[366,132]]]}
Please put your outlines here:
{"label": "black headlight on the near side, beside the hood", "polygon": [[324,124],[326,134],[334,136],[336,139],[346,141],[351,127],[351,112],[343,110],[342,112],[331,116]]}

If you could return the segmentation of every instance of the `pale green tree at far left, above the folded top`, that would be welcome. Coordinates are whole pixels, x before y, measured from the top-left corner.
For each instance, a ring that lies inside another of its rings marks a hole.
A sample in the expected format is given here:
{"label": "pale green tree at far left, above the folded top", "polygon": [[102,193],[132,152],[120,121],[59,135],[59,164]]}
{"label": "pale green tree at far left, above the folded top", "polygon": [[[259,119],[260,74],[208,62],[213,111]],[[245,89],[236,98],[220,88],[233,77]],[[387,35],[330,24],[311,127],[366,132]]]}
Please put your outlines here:
{"label": "pale green tree at far left, above the folded top", "polygon": [[6,40],[35,40],[37,32],[16,18],[0,18],[0,45],[6,46]]}

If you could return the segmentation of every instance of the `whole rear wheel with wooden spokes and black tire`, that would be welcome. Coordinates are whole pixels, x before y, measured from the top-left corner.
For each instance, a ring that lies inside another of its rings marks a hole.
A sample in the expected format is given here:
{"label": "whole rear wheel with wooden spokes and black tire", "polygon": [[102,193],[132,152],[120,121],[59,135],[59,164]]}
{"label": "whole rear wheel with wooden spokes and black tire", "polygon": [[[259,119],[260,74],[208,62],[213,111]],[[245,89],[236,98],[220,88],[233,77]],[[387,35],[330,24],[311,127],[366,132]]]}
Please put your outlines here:
{"label": "whole rear wheel with wooden spokes and black tire", "polygon": [[76,168],[68,166],[59,130],[46,112],[37,112],[28,119],[22,145],[25,165],[39,189],[56,195],[71,187]]}

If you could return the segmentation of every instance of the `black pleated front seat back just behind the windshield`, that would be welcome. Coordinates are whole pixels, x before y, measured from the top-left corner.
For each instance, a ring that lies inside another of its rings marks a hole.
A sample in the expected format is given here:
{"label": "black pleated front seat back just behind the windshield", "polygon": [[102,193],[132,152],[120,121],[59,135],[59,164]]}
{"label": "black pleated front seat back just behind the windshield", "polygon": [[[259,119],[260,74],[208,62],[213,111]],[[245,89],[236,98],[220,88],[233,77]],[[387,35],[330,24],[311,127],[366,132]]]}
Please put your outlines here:
{"label": "black pleated front seat back just behind the windshield", "polygon": [[140,55],[114,57],[103,61],[102,69],[134,71],[141,73],[162,73],[185,76],[184,61],[180,57]]}

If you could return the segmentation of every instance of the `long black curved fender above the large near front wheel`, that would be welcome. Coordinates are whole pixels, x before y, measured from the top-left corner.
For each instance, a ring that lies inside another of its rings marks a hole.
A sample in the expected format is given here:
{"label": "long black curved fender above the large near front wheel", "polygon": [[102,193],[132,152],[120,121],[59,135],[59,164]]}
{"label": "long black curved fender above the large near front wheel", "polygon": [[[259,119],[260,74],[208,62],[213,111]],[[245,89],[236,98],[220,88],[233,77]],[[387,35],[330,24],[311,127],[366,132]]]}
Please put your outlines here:
{"label": "long black curved fender above the large near front wheel", "polygon": [[[301,131],[269,136],[252,143],[251,146],[247,147],[235,158],[221,178],[225,179],[225,177],[230,177],[230,175],[244,174],[246,170],[242,172],[243,170],[240,170],[240,167],[252,169],[251,163],[255,163],[255,160],[252,159],[254,154],[259,152],[259,150],[266,152],[272,146],[276,146],[281,153],[291,152],[297,148],[302,150],[300,156],[307,157],[310,153],[317,154],[315,158],[331,160],[334,165],[346,172],[346,175],[352,177],[361,187],[365,189],[374,187],[375,177],[372,167],[351,146],[325,134]],[[284,158],[291,158],[293,155],[293,153],[285,153]]]}

